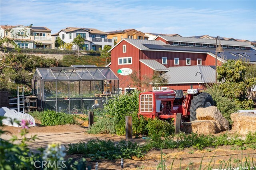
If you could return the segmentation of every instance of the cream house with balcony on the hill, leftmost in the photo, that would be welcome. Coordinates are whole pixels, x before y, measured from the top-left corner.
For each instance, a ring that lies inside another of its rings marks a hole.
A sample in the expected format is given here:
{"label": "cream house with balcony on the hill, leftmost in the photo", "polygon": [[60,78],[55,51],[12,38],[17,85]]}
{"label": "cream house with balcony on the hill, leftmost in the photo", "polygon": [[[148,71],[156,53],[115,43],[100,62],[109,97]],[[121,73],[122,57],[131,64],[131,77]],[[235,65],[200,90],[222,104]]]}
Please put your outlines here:
{"label": "cream house with balcony on the hill, leftmost in the photo", "polygon": [[0,36],[13,39],[20,48],[54,48],[51,30],[47,27],[1,25]]}

